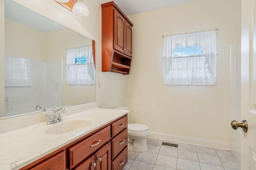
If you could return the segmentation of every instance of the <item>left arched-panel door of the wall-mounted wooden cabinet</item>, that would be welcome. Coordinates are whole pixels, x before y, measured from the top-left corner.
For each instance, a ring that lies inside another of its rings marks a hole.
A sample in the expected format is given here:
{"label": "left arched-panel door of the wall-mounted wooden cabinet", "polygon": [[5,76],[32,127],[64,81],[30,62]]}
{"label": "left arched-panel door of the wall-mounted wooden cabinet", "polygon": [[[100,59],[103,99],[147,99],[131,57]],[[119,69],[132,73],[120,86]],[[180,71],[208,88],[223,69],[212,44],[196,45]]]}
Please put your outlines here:
{"label": "left arched-panel door of the wall-mounted wooden cabinet", "polygon": [[124,28],[125,19],[118,11],[114,10],[114,49],[124,53],[125,42],[124,42]]}

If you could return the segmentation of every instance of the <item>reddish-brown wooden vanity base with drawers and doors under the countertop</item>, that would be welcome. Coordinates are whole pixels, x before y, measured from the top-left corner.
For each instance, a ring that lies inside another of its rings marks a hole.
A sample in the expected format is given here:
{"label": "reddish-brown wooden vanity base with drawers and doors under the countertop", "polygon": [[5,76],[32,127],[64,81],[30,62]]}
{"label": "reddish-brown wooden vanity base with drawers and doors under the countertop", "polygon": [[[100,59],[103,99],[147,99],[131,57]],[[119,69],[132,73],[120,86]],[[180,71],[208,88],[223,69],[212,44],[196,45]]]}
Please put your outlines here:
{"label": "reddish-brown wooden vanity base with drawers and doors under the countertop", "polygon": [[20,170],[122,170],[128,162],[127,114]]}

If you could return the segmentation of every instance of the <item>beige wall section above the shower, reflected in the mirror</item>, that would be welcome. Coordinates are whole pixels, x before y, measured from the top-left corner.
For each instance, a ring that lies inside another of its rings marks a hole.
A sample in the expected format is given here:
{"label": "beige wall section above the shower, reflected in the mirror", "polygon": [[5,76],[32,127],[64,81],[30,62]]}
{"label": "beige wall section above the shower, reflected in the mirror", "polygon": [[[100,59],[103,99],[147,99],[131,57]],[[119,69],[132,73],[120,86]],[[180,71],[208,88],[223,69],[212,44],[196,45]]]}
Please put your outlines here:
{"label": "beige wall section above the shower, reflected in the mirror", "polygon": [[6,56],[46,60],[46,33],[8,19],[4,24]]}

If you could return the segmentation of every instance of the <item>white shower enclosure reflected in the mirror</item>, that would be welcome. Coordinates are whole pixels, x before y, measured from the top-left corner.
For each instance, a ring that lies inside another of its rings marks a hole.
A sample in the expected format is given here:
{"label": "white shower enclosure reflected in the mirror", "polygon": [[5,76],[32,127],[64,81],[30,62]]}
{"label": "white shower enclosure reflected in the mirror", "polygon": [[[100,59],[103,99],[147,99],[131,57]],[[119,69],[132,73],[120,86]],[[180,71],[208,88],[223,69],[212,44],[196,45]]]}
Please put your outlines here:
{"label": "white shower enclosure reflected in the mirror", "polygon": [[62,106],[62,63],[5,57],[5,115]]}

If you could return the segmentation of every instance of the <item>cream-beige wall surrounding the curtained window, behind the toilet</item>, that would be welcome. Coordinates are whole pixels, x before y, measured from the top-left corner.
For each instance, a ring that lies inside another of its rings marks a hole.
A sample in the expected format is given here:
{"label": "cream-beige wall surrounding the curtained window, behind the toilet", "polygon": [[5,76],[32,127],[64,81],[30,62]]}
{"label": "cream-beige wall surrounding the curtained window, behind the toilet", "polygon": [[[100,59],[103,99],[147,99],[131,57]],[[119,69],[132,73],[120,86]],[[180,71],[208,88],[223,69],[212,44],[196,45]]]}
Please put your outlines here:
{"label": "cream-beige wall surrounding the curtained window, behind the toilet", "polygon": [[[198,0],[134,14],[132,69],[126,80],[130,122],[151,132],[230,143],[230,44],[240,43],[240,0]],[[218,28],[215,86],[164,86],[163,38]]]}

